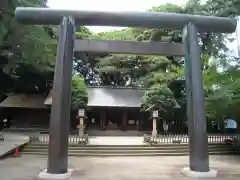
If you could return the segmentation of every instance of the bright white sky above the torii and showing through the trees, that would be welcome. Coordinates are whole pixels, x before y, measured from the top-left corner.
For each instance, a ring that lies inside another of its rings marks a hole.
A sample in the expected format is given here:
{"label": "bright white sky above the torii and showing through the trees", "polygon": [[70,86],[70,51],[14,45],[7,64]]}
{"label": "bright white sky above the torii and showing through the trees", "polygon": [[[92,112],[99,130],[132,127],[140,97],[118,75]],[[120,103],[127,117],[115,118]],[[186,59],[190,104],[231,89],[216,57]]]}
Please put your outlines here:
{"label": "bright white sky above the torii and showing through the trees", "polygon": [[[153,6],[166,3],[184,5],[187,0],[48,0],[48,6],[54,9],[96,10],[96,11],[146,11]],[[123,27],[90,26],[91,31],[98,33],[103,31],[120,30]],[[238,23],[238,38],[240,42],[240,18]],[[236,33],[231,35],[236,37]],[[235,40],[228,43],[230,55],[237,56],[238,44]]]}

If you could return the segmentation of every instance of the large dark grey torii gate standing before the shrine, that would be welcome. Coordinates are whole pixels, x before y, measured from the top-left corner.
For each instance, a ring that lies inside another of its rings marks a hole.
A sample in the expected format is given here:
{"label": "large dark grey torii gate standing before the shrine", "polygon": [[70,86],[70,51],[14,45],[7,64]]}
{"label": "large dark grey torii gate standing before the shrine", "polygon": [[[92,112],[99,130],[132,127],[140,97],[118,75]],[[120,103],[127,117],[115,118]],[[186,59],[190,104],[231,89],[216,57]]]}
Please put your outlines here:
{"label": "large dark grey torii gate standing before the shrine", "polygon": [[[197,33],[234,32],[231,18],[159,12],[101,12],[18,7],[16,18],[24,24],[59,25],[55,66],[47,173],[68,173],[68,127],[74,51],[184,56],[189,129],[189,172],[208,173],[208,138],[200,46]],[[75,40],[78,25],[167,28],[183,30],[183,45],[161,42]],[[184,50],[183,50],[184,49]],[[185,52],[185,53],[183,53]]]}

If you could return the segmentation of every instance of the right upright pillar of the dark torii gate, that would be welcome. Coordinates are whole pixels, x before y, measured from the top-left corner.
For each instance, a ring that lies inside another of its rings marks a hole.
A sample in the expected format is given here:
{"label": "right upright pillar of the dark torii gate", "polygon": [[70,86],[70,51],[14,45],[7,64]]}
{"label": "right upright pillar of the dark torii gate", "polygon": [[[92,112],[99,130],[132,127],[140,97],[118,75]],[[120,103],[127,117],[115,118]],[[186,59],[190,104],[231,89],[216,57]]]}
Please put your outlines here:
{"label": "right upright pillar of the dark torii gate", "polygon": [[183,31],[185,77],[190,150],[190,170],[209,171],[208,138],[202,80],[200,46],[196,27],[189,23]]}

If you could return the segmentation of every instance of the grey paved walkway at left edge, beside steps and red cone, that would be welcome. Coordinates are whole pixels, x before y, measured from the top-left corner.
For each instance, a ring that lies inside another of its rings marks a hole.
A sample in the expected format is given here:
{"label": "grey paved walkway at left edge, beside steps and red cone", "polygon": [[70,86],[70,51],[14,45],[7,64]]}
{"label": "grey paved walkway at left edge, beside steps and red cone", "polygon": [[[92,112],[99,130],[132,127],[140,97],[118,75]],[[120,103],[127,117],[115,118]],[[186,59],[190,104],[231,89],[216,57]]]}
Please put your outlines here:
{"label": "grey paved walkway at left edge, beside steps and red cone", "polygon": [[29,140],[28,136],[16,133],[5,132],[3,136],[4,141],[0,141],[0,158]]}

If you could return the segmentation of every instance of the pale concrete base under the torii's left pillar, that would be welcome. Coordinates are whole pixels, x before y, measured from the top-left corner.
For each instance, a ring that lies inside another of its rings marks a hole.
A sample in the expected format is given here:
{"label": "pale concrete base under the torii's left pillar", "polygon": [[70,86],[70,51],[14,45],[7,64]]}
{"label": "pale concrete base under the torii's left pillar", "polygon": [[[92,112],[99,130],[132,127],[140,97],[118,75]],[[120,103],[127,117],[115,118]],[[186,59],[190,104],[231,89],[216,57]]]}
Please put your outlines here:
{"label": "pale concrete base under the torii's left pillar", "polygon": [[72,175],[73,170],[72,169],[68,169],[68,172],[64,173],[64,174],[50,174],[47,172],[47,169],[45,169],[44,171],[40,172],[38,175],[38,178],[40,179],[54,179],[54,180],[58,180],[58,179],[70,179],[71,175]]}

